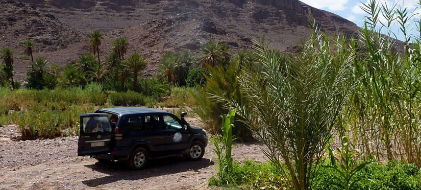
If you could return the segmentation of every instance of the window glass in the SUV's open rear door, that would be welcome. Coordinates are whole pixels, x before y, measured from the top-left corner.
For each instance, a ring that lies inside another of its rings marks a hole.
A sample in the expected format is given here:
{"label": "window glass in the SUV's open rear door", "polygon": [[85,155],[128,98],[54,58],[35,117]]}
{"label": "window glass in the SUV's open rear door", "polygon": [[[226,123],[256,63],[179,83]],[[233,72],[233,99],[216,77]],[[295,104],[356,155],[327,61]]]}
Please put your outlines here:
{"label": "window glass in the SUV's open rear door", "polygon": [[94,116],[83,118],[83,133],[106,133],[111,132],[112,128],[107,116]]}

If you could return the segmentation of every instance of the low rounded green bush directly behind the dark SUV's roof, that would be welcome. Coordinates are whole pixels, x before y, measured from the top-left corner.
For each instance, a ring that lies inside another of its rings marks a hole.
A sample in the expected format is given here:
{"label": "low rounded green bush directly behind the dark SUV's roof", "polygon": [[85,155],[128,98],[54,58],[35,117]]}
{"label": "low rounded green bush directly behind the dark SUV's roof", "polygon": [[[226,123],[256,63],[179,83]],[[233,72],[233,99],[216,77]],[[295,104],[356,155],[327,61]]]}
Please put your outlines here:
{"label": "low rounded green bush directly behind the dark SUV's roof", "polygon": [[142,94],[130,90],[127,92],[114,92],[110,94],[110,103],[115,106],[144,105],[144,98]]}

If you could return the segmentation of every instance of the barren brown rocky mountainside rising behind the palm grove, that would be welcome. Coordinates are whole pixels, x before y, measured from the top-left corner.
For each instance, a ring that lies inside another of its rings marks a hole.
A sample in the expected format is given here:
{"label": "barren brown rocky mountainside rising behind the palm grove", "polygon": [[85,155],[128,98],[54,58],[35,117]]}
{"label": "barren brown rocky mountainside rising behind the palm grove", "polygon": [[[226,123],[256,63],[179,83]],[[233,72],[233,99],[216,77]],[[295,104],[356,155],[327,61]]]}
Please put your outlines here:
{"label": "barren brown rocky mountainside rising behind the palm grove", "polygon": [[37,41],[34,56],[64,65],[88,51],[87,35],[93,29],[106,34],[104,57],[114,38],[125,36],[129,54],[141,53],[151,63],[143,75],[153,75],[166,51],[194,52],[209,40],[228,43],[235,52],[264,37],[277,49],[292,52],[310,34],[309,11],[330,34],[358,30],[353,22],[298,0],[9,0],[0,2],[0,10],[0,47],[16,48],[19,79],[28,67],[28,61],[20,60],[26,38]]}

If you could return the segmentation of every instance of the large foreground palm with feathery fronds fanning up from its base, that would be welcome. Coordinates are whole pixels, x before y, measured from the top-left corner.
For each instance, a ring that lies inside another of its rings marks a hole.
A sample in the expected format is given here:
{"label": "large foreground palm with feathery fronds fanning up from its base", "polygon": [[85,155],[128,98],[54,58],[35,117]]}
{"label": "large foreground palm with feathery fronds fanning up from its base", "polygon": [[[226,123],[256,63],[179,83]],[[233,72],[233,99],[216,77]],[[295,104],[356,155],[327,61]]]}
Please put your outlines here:
{"label": "large foreground palm with feathery fronds fanning up from its base", "polygon": [[[257,42],[259,67],[246,67],[235,80],[218,85],[211,82],[214,72],[210,69],[206,89],[211,89],[211,98],[237,109],[241,121],[268,147],[264,153],[291,188],[311,188],[324,152],[320,147],[328,143],[353,90],[350,68],[355,52],[344,42],[344,37],[335,41],[337,52],[331,53],[327,35],[315,30],[288,64],[267,43]],[[229,67],[226,73],[237,68]],[[227,88],[217,90],[220,86]]]}

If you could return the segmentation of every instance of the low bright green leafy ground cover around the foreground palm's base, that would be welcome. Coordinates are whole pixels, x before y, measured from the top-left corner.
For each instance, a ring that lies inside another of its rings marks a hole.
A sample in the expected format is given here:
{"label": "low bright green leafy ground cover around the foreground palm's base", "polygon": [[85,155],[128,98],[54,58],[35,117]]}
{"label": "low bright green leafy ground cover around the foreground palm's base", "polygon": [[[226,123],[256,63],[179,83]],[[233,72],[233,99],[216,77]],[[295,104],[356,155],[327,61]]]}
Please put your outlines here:
{"label": "low bright green leafy ground cover around the foreground palm's base", "polygon": [[[337,178],[338,173],[325,160],[317,166],[317,176],[312,190],[343,190]],[[233,162],[231,173],[235,183],[223,184],[217,177],[209,179],[209,185],[239,187],[240,189],[289,189],[280,171],[270,162],[259,163],[254,160]],[[414,164],[402,164],[390,161],[387,164],[372,162],[355,176],[358,182],[351,190],[417,190],[421,188],[421,170]]]}

